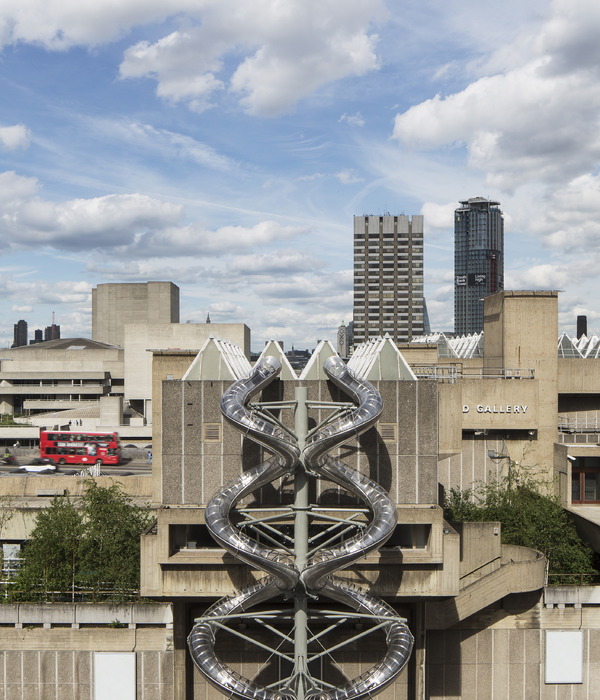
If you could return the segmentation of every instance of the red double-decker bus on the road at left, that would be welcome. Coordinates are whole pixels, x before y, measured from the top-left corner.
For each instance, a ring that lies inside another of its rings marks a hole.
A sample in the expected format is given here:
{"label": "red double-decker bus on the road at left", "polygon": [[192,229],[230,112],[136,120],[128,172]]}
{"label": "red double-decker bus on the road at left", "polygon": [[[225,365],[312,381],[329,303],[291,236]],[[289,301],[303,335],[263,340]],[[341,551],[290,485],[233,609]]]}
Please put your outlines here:
{"label": "red double-decker bus on the road at left", "polygon": [[55,464],[119,464],[119,434],[40,430],[40,457]]}

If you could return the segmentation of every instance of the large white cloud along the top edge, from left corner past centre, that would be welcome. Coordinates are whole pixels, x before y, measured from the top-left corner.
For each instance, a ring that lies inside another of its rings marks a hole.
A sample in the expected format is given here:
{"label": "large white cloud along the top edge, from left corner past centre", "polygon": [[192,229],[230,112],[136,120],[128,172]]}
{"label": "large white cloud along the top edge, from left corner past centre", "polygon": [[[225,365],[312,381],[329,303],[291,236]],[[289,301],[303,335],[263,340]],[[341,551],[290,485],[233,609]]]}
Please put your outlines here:
{"label": "large white cloud along the top edge, from left corner past centre", "polygon": [[177,21],[175,31],[125,52],[122,78],[152,78],[160,97],[199,112],[228,89],[247,112],[275,115],[326,83],[375,70],[369,25],[383,13],[381,0],[4,0],[0,48],[95,47]]}

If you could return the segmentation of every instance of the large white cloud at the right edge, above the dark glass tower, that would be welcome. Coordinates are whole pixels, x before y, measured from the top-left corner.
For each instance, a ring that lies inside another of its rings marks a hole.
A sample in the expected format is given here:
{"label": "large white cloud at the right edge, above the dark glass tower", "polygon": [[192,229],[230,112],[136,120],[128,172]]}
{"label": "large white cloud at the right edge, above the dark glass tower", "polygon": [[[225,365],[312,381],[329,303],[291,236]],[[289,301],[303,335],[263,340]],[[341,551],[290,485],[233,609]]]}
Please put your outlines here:
{"label": "large white cloud at the right edge, above the dark glass tower", "polygon": [[587,45],[590,32],[600,31],[600,12],[589,7],[587,0],[555,2],[526,62],[397,115],[394,138],[409,148],[464,144],[470,165],[506,192],[593,169],[600,158],[598,62],[594,52],[577,50],[578,38]]}

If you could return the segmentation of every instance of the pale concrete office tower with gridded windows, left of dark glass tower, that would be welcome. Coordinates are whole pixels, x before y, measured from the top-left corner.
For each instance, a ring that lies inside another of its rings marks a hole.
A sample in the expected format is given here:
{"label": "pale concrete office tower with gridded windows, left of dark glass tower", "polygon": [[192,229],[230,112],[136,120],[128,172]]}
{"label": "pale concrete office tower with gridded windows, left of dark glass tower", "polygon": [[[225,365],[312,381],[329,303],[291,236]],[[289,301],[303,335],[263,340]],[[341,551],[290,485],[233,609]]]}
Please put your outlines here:
{"label": "pale concrete office tower with gridded windows, left of dark glass tower", "polygon": [[423,217],[354,217],[354,345],[424,333]]}

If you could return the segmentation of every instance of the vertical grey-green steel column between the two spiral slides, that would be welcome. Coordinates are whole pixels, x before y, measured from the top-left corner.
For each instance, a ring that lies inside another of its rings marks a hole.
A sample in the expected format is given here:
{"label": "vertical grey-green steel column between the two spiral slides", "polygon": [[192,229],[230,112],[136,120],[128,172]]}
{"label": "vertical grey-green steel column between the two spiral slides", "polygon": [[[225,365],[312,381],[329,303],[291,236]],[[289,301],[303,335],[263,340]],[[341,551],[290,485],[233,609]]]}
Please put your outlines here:
{"label": "vertical grey-green steel column between the two spiral slides", "polygon": [[[294,416],[294,432],[298,438],[300,451],[304,450],[304,443],[308,433],[308,389],[305,386],[296,387],[296,413]],[[308,556],[308,478],[304,464],[304,456],[301,455],[294,480],[294,557],[298,571],[306,566]],[[306,591],[300,586],[296,589],[294,599],[294,667],[298,674],[296,696],[298,700],[304,700],[306,691],[307,671],[307,636],[308,613]]]}

